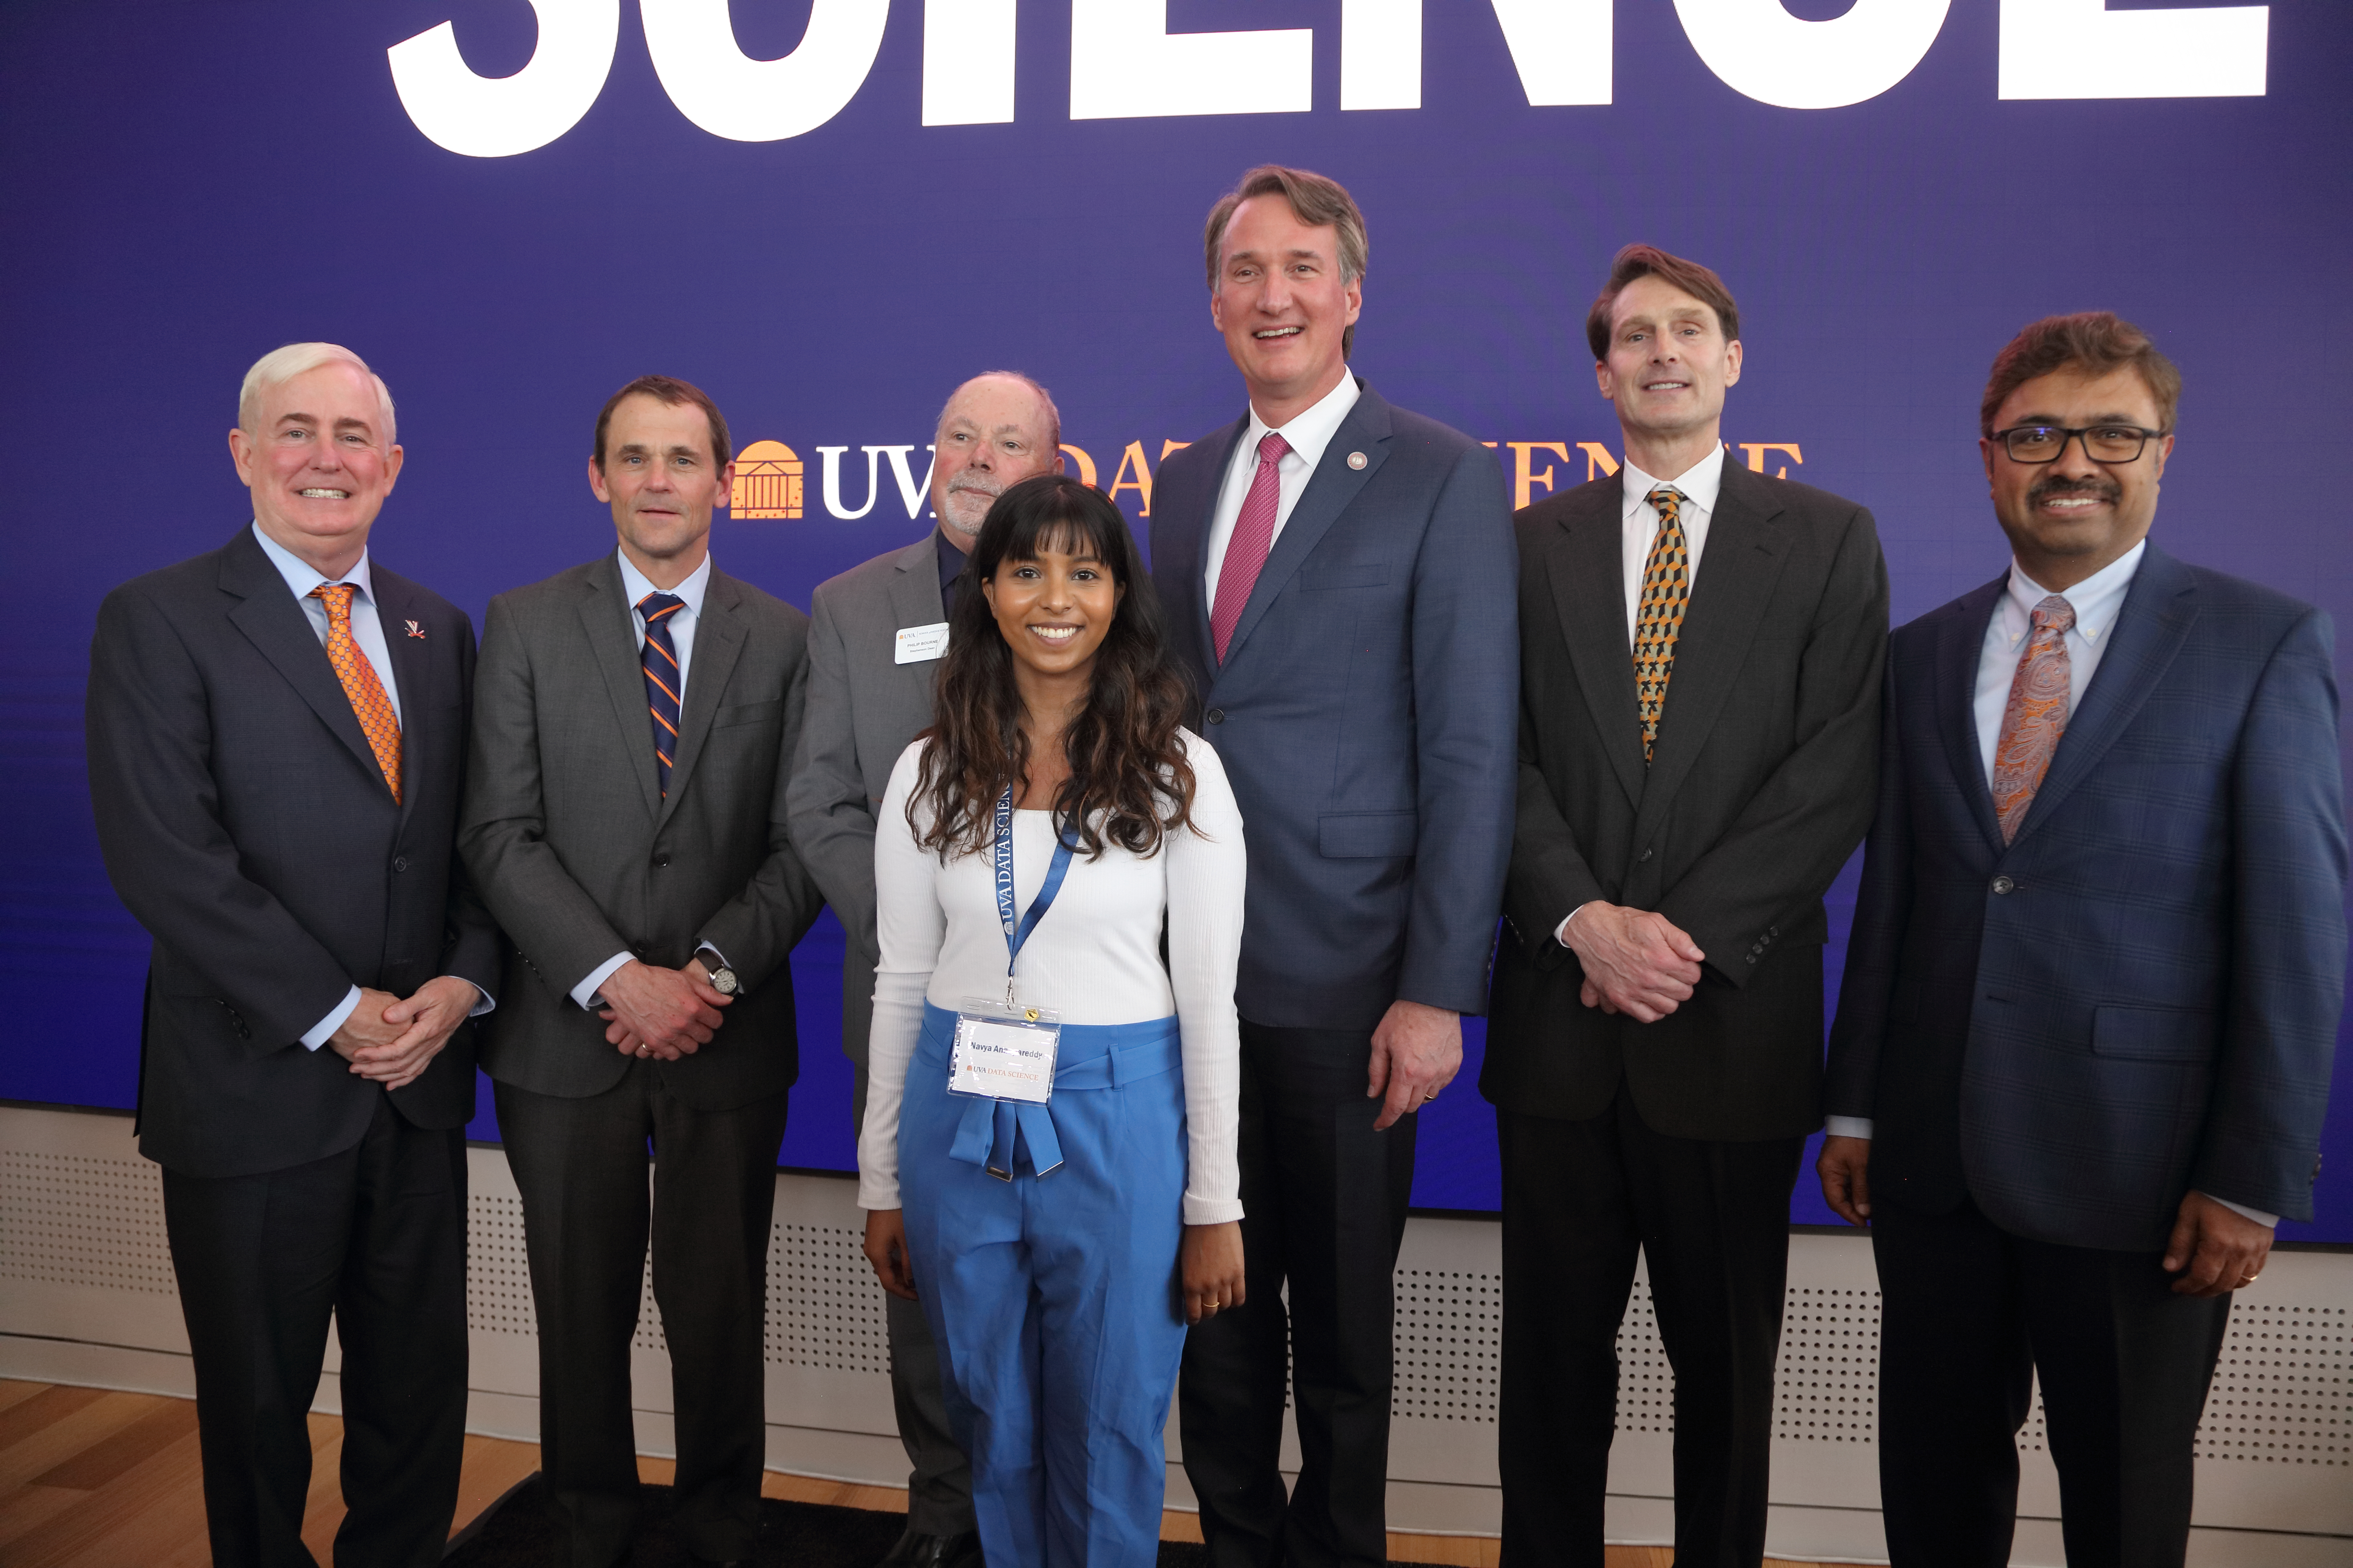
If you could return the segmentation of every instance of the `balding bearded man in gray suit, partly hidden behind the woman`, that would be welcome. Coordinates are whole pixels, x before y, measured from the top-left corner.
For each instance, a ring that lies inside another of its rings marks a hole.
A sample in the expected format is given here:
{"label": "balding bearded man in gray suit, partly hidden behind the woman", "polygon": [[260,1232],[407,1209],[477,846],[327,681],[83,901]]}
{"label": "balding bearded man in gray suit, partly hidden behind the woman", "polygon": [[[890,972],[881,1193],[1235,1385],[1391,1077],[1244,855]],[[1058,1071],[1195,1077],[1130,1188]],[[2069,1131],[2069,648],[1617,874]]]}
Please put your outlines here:
{"label": "balding bearded man in gray suit, partly hidden behind the woman", "polygon": [[[819,583],[809,599],[809,719],[793,755],[793,842],[849,933],[842,947],[842,1053],[856,1067],[852,1131],[866,1121],[866,1030],[875,990],[875,811],[892,764],[932,724],[932,677],[965,550],[1007,484],[1061,473],[1061,416],[1014,371],[955,388],[932,442],[939,527],[913,545]],[[889,1272],[885,1272],[887,1276]],[[939,1352],[913,1298],[887,1300],[892,1401],[908,1474],[906,1535],[885,1568],[981,1561],[972,1467],[948,1434]]]}

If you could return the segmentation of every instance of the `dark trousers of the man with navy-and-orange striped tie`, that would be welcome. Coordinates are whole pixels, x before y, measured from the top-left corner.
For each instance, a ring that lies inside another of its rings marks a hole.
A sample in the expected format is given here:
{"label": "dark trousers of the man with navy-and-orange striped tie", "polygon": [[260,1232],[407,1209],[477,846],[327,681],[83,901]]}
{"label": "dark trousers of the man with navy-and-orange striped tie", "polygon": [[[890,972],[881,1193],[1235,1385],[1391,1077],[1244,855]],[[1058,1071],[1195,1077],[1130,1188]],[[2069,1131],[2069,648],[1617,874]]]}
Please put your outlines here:
{"label": "dark trousers of the man with navy-and-orange striped tie", "polygon": [[647,1232],[671,1345],[678,1530],[694,1556],[758,1556],[767,1232],[786,1095],[692,1110],[652,1063],[579,1100],[513,1084],[496,1095],[539,1307],[539,1467],[555,1561],[612,1568],[638,1526],[628,1342]]}

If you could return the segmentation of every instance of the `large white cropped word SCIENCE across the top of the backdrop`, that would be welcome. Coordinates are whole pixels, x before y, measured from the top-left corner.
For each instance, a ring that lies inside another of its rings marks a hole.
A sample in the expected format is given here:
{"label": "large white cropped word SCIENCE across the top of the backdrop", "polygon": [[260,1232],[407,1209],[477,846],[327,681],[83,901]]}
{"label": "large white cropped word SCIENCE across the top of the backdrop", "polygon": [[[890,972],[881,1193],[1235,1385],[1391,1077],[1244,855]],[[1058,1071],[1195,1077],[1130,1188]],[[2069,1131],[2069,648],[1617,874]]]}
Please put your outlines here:
{"label": "large white cropped word SCIENCE across the top of the backdrop", "polygon": [[[925,0],[922,122],[1014,118],[1019,0]],[[1532,106],[1609,103],[1617,0],[1492,0]],[[638,0],[671,101],[729,141],[800,136],[842,113],[882,49],[889,0],[814,0],[784,59],[746,59],[727,0]],[[1339,106],[1421,108],[1421,0],[1341,0]],[[1875,99],[1920,63],[1951,0],[1854,0],[1833,21],[1781,0],[1675,0],[1692,49],[1739,94],[1779,108]],[[532,0],[539,47],[508,78],[475,75],[452,24],[388,49],[393,87],[431,141],[468,158],[541,148],[588,113],[621,0]],[[2261,96],[2271,9],[2111,12],[2106,0],[2002,0],[2005,99]],[[1169,33],[1167,0],[1071,0],[1071,118],[1304,113],[1308,28]]]}

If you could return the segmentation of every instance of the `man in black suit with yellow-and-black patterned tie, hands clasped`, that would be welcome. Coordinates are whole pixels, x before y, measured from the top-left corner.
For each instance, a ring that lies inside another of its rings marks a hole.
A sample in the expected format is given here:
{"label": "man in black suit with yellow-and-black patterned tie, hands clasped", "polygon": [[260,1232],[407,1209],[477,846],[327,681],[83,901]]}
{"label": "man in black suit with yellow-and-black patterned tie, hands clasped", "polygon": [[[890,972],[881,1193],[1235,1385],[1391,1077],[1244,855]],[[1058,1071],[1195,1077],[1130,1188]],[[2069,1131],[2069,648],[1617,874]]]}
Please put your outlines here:
{"label": "man in black suit with yellow-and-black patterned tie, hands clasped", "polygon": [[1821,893],[1871,823],[1871,512],[1725,461],[1739,310],[1619,252],[1626,465],[1525,508],[1520,811],[1480,1091],[1504,1154],[1504,1554],[1602,1561],[1635,1251],[1675,1368],[1675,1561],[1765,1552],[1788,1194],[1821,1126]]}

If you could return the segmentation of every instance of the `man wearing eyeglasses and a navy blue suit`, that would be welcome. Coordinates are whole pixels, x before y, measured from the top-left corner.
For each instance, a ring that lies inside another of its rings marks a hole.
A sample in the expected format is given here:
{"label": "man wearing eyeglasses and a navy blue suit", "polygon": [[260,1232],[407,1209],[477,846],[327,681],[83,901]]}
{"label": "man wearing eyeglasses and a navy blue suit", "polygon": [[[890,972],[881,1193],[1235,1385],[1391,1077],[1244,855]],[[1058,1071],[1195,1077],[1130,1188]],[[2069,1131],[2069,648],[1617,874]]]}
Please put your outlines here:
{"label": "man wearing eyeglasses and a navy blue suit", "polygon": [[2066,1561],[2181,1563],[2231,1293],[2313,1213],[2332,632],[2148,543],[2179,395],[2108,313],[2021,331],[1979,442],[2009,571],[1887,649],[1819,1171],[1873,1227],[1899,1566],[2009,1561],[2038,1373]]}

